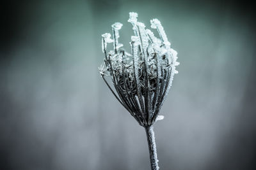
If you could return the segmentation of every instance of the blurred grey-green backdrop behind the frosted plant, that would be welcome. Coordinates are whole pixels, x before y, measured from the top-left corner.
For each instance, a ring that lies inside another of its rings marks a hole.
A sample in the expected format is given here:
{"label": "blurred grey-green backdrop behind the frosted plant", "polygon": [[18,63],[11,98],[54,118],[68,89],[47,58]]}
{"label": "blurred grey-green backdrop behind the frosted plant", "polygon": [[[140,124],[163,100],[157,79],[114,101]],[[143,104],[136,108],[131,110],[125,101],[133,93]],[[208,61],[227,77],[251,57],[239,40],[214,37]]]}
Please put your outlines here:
{"label": "blurred grey-green backdrop behind the frosted plant", "polygon": [[256,169],[255,13],[245,1],[1,3],[0,169],[150,169],[145,130],[100,78],[101,34],[129,11],[178,52],[154,125],[160,169]]}

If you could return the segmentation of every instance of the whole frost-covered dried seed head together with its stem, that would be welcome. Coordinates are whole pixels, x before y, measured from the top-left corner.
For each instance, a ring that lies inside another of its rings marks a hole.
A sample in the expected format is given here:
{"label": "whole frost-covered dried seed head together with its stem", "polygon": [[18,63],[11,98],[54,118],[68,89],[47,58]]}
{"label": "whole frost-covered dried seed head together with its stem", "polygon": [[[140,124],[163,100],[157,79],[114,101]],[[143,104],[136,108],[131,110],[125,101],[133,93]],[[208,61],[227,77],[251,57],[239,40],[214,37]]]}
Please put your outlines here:
{"label": "whole frost-covered dried seed head together with its stem", "polygon": [[[116,99],[131,113],[132,117],[145,128],[147,133],[150,164],[152,170],[159,169],[153,124],[162,120],[159,111],[172,85],[177,52],[170,47],[161,22],[150,20],[152,29],[156,29],[159,38],[142,22],[138,14],[129,13],[128,22],[132,24],[134,36],[131,36],[131,53],[126,52],[119,43],[120,22],[112,25],[111,34],[102,34],[102,52],[104,62],[99,67],[100,74]],[[107,52],[108,43],[113,43],[113,50]],[[110,77],[115,87],[111,88],[106,76]]]}

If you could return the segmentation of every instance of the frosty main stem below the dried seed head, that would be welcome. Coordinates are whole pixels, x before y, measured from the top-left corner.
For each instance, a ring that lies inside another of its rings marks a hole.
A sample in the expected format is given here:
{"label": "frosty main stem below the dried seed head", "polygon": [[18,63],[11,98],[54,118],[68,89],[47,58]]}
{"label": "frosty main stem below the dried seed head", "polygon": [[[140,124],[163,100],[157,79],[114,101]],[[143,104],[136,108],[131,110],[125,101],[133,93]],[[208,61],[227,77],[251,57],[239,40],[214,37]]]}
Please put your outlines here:
{"label": "frosty main stem below the dried seed head", "polygon": [[155,134],[153,131],[153,126],[145,127],[145,131],[147,134],[148,140],[148,150],[149,150],[149,157],[150,157],[150,164],[152,170],[158,170],[158,160],[157,160],[157,153],[156,153],[156,140]]}

